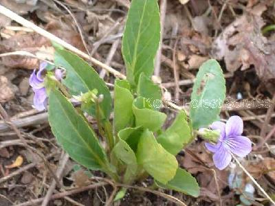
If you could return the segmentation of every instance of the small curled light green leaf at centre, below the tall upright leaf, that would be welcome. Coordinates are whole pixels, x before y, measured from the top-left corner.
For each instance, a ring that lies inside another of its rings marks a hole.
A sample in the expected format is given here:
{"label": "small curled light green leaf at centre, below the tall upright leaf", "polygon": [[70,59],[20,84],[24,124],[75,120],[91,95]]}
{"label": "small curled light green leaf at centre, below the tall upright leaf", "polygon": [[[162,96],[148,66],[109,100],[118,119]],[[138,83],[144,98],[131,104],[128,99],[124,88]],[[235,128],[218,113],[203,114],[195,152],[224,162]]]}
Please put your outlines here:
{"label": "small curled light green leaf at centre, below the tall upright leaf", "polygon": [[135,126],[142,126],[153,132],[159,130],[166,119],[166,114],[152,110],[152,106],[146,98],[134,100],[133,114],[135,115]]}

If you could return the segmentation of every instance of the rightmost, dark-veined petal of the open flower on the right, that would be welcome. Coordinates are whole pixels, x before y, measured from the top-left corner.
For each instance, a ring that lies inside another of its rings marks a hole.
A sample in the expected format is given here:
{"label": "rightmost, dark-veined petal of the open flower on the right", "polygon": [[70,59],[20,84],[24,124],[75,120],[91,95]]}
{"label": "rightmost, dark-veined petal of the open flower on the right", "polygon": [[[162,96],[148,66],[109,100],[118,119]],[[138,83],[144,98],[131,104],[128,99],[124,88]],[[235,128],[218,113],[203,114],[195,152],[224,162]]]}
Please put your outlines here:
{"label": "rightmost, dark-veined petal of the open flower on the right", "polygon": [[231,136],[223,141],[223,144],[226,144],[230,151],[239,157],[245,157],[252,150],[252,142],[244,136]]}

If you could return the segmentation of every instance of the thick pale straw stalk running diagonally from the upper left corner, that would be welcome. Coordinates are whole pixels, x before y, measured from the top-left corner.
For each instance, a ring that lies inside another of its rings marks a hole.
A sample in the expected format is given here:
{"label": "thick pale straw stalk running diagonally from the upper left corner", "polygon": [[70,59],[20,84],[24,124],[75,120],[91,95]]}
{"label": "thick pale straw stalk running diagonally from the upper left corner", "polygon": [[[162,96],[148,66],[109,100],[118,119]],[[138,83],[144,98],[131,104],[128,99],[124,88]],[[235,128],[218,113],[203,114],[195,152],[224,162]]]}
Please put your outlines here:
{"label": "thick pale straw stalk running diagonally from the upper left corner", "polygon": [[46,30],[43,30],[41,27],[39,27],[39,26],[35,25],[34,23],[24,19],[23,17],[21,17],[18,14],[12,12],[8,8],[5,8],[3,5],[0,5],[0,13],[4,14],[5,16],[8,16],[10,19],[12,19],[14,21],[17,21],[17,23],[20,23],[21,25],[23,25],[25,27],[31,28],[35,32],[41,34],[42,36],[45,36],[46,38],[49,38],[51,41],[54,41],[54,42],[58,43],[59,45],[65,47],[66,49],[69,49],[70,51],[78,54],[79,56],[82,56],[83,58],[91,60],[91,62],[94,63],[95,65],[97,65],[98,67],[102,67],[103,69],[106,69],[110,73],[113,73],[114,76],[117,76],[118,78],[122,78],[122,79],[126,78],[119,71],[116,71],[112,67],[109,67],[109,66],[103,64],[102,62],[100,62],[99,60],[96,60],[95,58],[92,58],[92,57],[90,58],[90,56],[88,54],[85,54],[84,52],[80,51],[76,47],[74,47],[74,46],[70,45],[69,43],[63,41],[61,38],[58,38],[54,34],[51,34],[50,32],[47,32]]}

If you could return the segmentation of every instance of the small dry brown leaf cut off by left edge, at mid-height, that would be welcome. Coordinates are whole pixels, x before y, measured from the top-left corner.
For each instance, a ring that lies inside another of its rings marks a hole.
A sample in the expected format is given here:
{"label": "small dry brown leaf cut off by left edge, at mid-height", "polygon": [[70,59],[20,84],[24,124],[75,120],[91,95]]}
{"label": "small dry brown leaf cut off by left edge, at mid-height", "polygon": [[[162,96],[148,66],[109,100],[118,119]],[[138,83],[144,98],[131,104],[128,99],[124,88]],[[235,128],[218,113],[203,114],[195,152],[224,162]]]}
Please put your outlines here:
{"label": "small dry brown leaf cut off by left edge, at mid-height", "polygon": [[10,87],[10,82],[5,76],[0,76],[0,102],[8,102],[14,98],[14,92]]}

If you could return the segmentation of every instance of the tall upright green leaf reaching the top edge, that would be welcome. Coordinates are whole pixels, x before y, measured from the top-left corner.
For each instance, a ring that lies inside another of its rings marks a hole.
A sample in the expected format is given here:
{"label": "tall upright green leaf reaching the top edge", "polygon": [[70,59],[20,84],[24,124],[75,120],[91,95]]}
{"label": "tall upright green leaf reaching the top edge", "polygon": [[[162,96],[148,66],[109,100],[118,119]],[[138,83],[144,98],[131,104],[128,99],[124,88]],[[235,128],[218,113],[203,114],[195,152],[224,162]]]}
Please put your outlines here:
{"label": "tall upright green leaf reaching the top edge", "polygon": [[150,77],[159,47],[160,21],[157,0],[133,0],[122,38],[127,79],[137,84],[140,73]]}

